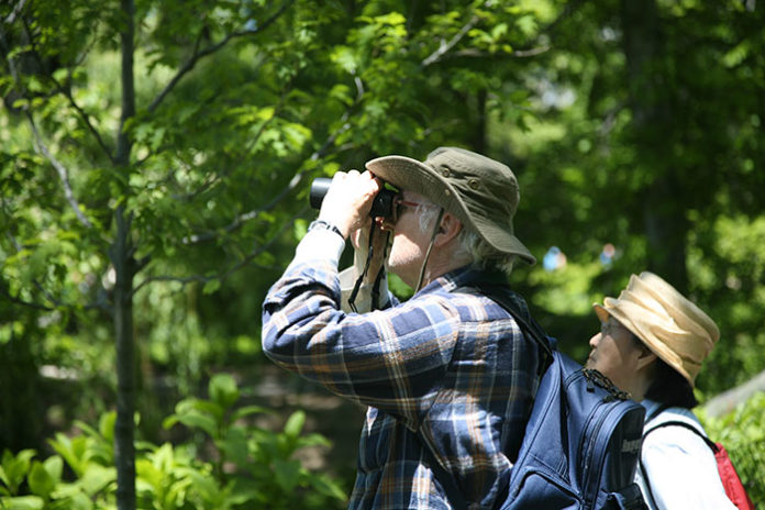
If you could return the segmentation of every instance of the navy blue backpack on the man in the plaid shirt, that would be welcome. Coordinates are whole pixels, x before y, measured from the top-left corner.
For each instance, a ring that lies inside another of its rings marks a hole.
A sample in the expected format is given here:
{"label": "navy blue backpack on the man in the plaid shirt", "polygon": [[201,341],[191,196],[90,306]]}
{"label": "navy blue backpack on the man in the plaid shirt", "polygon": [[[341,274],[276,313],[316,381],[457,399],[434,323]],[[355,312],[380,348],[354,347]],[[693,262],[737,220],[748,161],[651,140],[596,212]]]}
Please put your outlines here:
{"label": "navy blue backpack on the man in the plaid shirt", "polygon": [[[499,508],[645,509],[633,481],[645,409],[598,370],[559,353],[507,290],[479,287],[546,354],[534,404]],[[545,368],[546,366],[546,368]],[[451,496],[453,489],[447,490]],[[461,501],[461,500],[457,500]],[[461,501],[462,502],[462,501]],[[455,508],[466,508],[465,505]]]}

